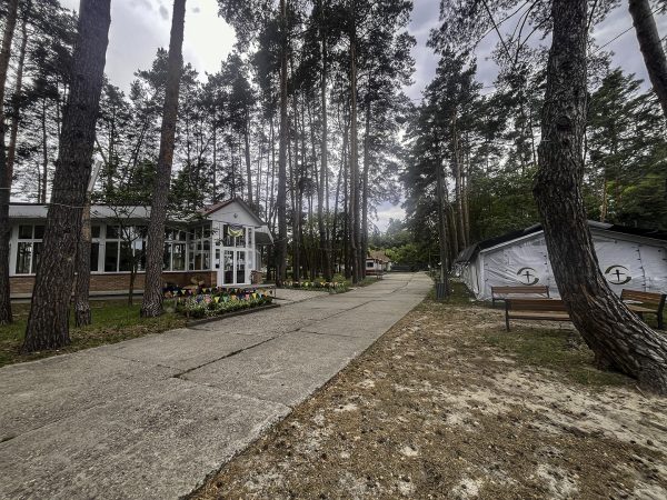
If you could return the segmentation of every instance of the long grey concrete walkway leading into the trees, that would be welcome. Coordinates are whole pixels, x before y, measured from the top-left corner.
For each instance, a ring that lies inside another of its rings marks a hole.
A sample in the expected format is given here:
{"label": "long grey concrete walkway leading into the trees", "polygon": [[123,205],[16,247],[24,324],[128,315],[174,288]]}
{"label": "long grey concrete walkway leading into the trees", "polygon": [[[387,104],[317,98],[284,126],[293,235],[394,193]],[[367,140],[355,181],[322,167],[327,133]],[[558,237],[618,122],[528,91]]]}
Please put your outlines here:
{"label": "long grey concrete walkway leading into the trees", "polygon": [[370,287],[0,369],[0,498],[188,494],[417,306]]}

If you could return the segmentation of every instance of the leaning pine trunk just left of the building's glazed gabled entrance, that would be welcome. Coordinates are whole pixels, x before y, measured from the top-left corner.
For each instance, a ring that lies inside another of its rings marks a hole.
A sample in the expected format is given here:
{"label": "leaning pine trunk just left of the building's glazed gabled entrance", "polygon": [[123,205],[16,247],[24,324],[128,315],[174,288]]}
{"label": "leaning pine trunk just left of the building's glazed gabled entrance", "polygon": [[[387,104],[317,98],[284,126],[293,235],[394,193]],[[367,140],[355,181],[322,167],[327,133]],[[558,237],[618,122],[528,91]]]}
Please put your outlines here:
{"label": "leaning pine trunk just left of the building's glazed gabled entrance", "polygon": [[148,224],[146,247],[146,283],[143,286],[142,317],[157,317],[162,313],[162,260],[165,253],[165,221],[173,161],[173,140],[178,118],[179,83],[183,66],[182,44],[186,18],[186,0],[173,0],[169,59],[167,62],[167,89],[162,110],[160,153],[153,181],[152,207]]}

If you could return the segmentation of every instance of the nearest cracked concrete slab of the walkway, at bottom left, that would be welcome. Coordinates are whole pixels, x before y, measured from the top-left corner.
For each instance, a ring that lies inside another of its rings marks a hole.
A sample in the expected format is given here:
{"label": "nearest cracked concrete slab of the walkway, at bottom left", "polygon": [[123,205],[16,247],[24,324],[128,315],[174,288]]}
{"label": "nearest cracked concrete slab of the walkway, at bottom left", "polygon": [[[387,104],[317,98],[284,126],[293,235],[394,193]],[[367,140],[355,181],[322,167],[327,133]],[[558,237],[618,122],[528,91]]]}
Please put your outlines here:
{"label": "nearest cracked concrete slab of the walkway, at bottom left", "polygon": [[175,378],[133,388],[0,443],[0,496],[180,498],[289,411]]}

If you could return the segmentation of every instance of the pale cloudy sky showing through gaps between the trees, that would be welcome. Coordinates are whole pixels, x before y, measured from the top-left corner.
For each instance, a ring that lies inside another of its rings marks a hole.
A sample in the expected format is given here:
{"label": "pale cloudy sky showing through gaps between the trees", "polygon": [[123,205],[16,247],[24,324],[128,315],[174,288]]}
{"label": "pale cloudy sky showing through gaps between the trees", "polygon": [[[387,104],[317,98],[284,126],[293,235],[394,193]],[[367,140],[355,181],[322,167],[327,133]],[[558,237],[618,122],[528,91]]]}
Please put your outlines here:
{"label": "pale cloudy sky showing through gaps between the trees", "polygon": [[[216,0],[188,0],[186,14],[186,32],[183,58],[203,76],[216,72],[220,61],[227,57],[233,46],[233,30],[220,18]],[[437,59],[426,47],[429,31],[438,26],[437,0],[414,0],[415,10],[410,32],[417,38],[414,50],[416,72],[414,84],[406,91],[418,101],[421,90],[435,73]],[[78,10],[79,0],[61,0],[61,4]],[[107,52],[107,74],[111,82],[127,90],[138,69],[150,68],[156,51],[169,46],[172,0],[112,0],[111,32]],[[627,12],[626,2],[615,10],[599,27],[594,37],[598,46],[603,46],[620,34],[633,24]],[[658,19],[660,34],[667,33],[664,18]],[[490,86],[496,77],[496,68],[489,59],[497,39],[487,37],[479,44],[476,56],[478,61],[478,80]],[[614,52],[615,66],[634,72],[638,78],[647,80],[644,61],[639,52],[634,30],[605,47]],[[402,218],[400,207],[384,203],[378,208],[380,220],[378,226],[385,229],[390,217]]]}

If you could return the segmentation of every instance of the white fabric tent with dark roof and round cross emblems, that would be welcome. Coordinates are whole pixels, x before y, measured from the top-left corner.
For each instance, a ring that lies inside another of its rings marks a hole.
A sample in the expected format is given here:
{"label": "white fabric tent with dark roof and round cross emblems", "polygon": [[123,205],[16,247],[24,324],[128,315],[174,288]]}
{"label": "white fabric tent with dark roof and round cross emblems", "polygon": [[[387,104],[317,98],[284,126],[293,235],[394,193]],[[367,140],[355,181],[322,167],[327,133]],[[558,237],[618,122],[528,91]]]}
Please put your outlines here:
{"label": "white fabric tent with dark roof and round cross emblems", "polygon": [[[588,222],[600,270],[611,290],[667,293],[667,233]],[[491,287],[546,284],[559,297],[541,226],[481,241],[465,249],[455,273],[480,300]]]}

